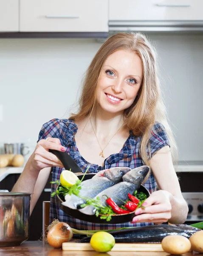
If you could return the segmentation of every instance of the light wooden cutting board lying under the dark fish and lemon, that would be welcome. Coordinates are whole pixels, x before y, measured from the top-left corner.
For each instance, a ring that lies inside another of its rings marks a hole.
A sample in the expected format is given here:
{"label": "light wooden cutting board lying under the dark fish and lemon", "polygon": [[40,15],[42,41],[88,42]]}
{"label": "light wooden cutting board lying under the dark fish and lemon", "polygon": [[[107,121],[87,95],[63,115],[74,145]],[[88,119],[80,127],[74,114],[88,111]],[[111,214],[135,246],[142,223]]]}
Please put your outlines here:
{"label": "light wooden cutting board lying under the dark fish and lemon", "polygon": [[[62,244],[63,250],[69,251],[93,251],[90,243],[67,242]],[[133,243],[116,243],[111,251],[130,251],[130,252],[164,252],[161,244],[133,244]]]}

